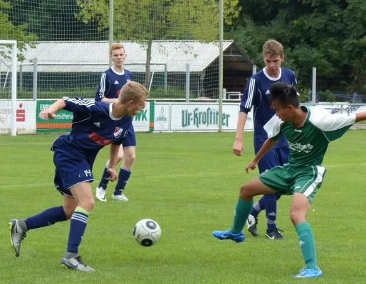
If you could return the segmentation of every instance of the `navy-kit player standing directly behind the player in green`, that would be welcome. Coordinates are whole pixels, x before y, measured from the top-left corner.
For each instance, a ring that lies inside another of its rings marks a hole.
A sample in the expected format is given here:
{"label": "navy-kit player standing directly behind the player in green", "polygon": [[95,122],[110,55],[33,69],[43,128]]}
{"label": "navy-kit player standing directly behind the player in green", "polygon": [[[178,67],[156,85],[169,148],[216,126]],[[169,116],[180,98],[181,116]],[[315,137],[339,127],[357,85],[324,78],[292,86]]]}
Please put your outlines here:
{"label": "navy-kit player standing directly behind the player in green", "polygon": [[[236,129],[234,143],[234,154],[241,156],[243,151],[243,130],[246,124],[248,112],[253,108],[254,119],[254,151],[258,153],[259,149],[267,139],[267,133],[263,126],[275,114],[275,109],[270,102],[269,88],[274,82],[287,82],[296,86],[296,77],[292,70],[281,68],[284,60],[283,47],[276,40],[267,40],[263,45],[263,60],[266,67],[251,76],[243,97],[241,98],[240,113]],[[269,151],[258,163],[259,173],[288,163],[288,148],[286,139],[282,137],[276,146]],[[248,229],[253,236],[258,236],[256,224],[258,223],[258,214],[266,209],[268,239],[284,239],[276,226],[277,200],[281,195],[263,195],[256,204],[254,204],[251,214],[248,218]]]}

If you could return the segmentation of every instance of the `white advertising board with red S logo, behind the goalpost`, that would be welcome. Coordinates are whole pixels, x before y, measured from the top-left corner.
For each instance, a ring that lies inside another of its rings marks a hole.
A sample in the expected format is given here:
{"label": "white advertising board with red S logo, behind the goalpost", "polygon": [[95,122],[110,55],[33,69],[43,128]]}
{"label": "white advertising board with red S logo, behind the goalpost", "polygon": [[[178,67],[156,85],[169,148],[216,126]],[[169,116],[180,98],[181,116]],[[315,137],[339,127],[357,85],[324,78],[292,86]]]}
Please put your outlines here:
{"label": "white advertising board with red S logo, behind the goalpost", "polygon": [[[0,134],[11,133],[11,100],[0,100]],[[16,133],[36,133],[36,101],[16,102]]]}

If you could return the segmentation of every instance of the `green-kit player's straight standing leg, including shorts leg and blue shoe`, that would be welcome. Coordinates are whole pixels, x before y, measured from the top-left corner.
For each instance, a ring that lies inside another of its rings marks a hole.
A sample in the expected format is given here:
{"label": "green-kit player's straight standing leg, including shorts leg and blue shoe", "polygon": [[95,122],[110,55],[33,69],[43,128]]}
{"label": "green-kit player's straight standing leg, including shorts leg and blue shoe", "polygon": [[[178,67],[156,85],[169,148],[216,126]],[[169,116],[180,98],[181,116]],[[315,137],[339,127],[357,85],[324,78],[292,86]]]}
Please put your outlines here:
{"label": "green-kit player's straight standing leg, including shorts leg and blue shoe", "polygon": [[313,230],[306,221],[306,215],[315,193],[323,182],[324,175],[325,168],[310,167],[309,170],[301,170],[301,173],[298,173],[294,185],[291,221],[298,234],[301,253],[306,265],[294,278],[315,278],[323,275],[317,265]]}

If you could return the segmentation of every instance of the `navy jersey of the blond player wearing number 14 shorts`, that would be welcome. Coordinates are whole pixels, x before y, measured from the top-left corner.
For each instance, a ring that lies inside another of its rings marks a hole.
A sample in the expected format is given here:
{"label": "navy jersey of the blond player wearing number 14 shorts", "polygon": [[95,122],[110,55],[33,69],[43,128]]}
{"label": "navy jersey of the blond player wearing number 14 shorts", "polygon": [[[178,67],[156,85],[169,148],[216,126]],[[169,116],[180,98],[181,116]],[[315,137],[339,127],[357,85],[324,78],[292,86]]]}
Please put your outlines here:
{"label": "navy jersey of the blond player wearing number 14 shorts", "polygon": [[69,135],[59,136],[53,142],[52,151],[93,161],[104,146],[123,142],[132,124],[131,116],[117,119],[112,115],[113,104],[95,102],[94,99],[63,97],[63,100],[66,103],[64,109],[74,114],[73,126]]}

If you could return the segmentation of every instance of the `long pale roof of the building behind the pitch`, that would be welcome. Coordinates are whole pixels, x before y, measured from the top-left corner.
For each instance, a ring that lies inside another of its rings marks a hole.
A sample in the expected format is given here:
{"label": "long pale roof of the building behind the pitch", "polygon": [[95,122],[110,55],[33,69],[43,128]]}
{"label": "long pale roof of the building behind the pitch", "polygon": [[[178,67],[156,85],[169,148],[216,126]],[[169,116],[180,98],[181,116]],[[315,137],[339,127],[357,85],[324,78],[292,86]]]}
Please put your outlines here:
{"label": "long pale roof of the building behind the pitch", "polygon": [[[234,40],[224,40],[224,50],[233,43]],[[123,44],[127,53],[126,69],[131,72],[145,72],[146,46],[130,41],[125,41]],[[234,49],[238,51],[237,48]],[[33,71],[33,58],[37,58],[38,72],[103,72],[108,69],[108,50],[107,41],[40,42],[36,48],[24,51],[26,60],[19,63],[23,72]],[[243,56],[244,62],[250,62],[245,55]],[[186,72],[189,63],[190,72],[202,72],[218,57],[219,43],[216,42],[154,40],[150,70],[164,72],[166,65],[167,72]],[[10,61],[7,61],[9,64]],[[0,71],[4,70],[7,68],[0,62]]]}

